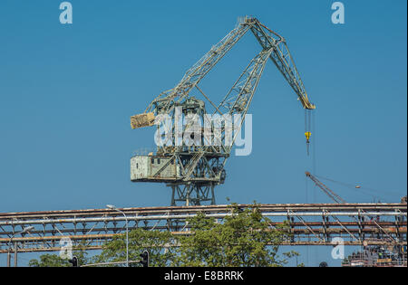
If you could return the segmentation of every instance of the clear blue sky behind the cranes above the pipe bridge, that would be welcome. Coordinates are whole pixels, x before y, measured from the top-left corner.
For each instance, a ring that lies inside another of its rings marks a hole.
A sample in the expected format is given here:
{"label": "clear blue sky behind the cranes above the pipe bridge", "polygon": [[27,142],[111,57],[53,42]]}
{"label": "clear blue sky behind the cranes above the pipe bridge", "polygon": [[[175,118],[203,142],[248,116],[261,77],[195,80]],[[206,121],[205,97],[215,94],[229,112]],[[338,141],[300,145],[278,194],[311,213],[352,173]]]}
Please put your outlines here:
{"label": "clear blue sky behind the cranes above the pipe bridge", "polygon": [[[130,116],[246,14],[287,39],[317,106],[315,152],[306,157],[304,110],[268,62],[249,109],[253,152],[228,161],[218,203],[330,202],[306,170],[385,202],[406,195],[406,1],[343,1],[343,25],[331,23],[329,0],[72,0],[71,25],[59,23],[61,2],[0,3],[1,212],[170,204],[165,185],[130,181],[132,152],[153,145],[153,130],[132,130]],[[258,51],[248,33],[202,89],[220,98]]]}

